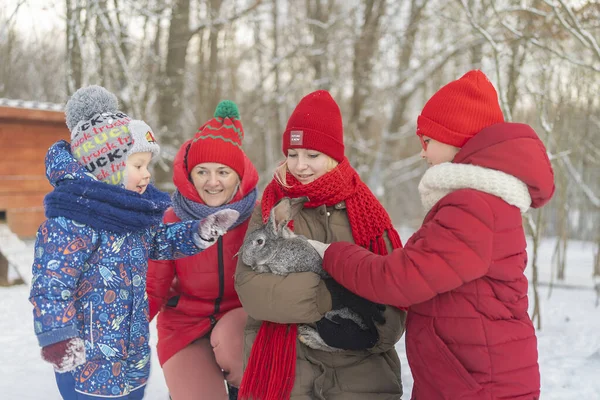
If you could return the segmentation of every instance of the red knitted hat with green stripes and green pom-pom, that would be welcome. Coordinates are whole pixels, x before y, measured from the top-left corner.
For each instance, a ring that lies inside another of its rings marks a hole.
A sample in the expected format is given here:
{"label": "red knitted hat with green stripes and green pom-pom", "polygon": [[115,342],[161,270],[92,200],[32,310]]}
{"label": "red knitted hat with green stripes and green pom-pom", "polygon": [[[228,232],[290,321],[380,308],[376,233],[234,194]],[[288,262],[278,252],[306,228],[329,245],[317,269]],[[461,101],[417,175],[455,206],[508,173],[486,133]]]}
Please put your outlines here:
{"label": "red knitted hat with green stripes and green pom-pom", "polygon": [[227,165],[240,177],[244,175],[244,128],[239,118],[233,101],[223,100],[217,105],[214,118],[198,129],[190,145],[186,158],[188,174],[198,164],[215,162]]}

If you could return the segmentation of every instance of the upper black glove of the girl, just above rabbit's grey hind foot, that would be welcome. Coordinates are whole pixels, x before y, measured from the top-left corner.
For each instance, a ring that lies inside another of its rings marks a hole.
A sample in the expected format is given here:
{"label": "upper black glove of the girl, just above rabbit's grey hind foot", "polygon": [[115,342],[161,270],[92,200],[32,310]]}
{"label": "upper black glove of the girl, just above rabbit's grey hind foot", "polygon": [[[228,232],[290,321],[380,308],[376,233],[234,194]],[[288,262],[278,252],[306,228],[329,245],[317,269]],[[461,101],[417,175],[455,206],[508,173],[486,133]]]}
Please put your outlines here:
{"label": "upper black glove of the girl, just above rabbit's grey hind foot", "polygon": [[340,310],[348,307],[357,313],[367,326],[370,321],[385,324],[385,317],[383,316],[383,312],[385,311],[384,305],[373,303],[352,293],[334,279],[325,279],[325,285],[331,294],[332,310]]}

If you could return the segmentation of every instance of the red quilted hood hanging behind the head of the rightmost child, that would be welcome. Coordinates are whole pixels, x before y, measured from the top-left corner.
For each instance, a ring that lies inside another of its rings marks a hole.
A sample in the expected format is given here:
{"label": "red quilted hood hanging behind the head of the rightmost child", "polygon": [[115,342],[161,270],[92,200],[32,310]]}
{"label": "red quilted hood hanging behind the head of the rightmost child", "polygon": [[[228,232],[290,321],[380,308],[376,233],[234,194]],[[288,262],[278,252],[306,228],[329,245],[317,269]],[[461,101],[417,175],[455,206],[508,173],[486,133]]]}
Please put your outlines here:
{"label": "red quilted hood hanging behind the head of the rightmost child", "polygon": [[543,206],[554,194],[554,171],[546,147],[526,124],[503,122],[483,129],[460,149],[453,163],[514,176],[527,185],[533,208]]}

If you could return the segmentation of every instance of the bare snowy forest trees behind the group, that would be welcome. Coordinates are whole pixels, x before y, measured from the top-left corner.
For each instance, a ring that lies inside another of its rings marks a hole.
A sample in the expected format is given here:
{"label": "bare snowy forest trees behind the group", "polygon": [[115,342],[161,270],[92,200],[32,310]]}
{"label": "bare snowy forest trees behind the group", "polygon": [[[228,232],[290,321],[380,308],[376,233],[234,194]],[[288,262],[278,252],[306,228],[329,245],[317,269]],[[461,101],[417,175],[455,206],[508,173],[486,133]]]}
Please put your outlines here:
{"label": "bare snowy forest trees behind the group", "polygon": [[394,223],[411,228],[423,218],[426,168],[416,117],[440,86],[482,69],[505,119],[532,125],[554,167],[553,200],[524,217],[534,271],[542,237],[557,237],[557,284],[569,239],[593,242],[600,296],[598,1],[7,0],[0,60],[0,98],[64,104],[90,84],[117,94],[157,133],[154,176],[165,190],[179,146],[220,100],[239,106],[262,187],[283,159],[294,106],[329,90],[352,165]]}

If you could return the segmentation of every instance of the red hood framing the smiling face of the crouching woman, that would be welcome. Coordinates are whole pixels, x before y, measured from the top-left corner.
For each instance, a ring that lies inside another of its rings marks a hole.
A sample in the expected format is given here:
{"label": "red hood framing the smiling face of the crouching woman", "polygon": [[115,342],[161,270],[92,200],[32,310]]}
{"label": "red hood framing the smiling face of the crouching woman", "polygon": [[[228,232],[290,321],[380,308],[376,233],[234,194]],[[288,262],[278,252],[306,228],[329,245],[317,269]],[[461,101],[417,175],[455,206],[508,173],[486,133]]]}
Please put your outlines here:
{"label": "red hood framing the smiling face of the crouching woman", "polygon": [[[200,195],[189,178],[185,168],[185,157],[193,140],[194,139],[192,138],[185,142],[175,156],[175,161],[173,162],[173,183],[177,187],[177,190],[179,190],[179,193],[181,193],[187,199],[195,201],[196,203],[205,204],[200,198]],[[258,184],[258,172],[245,153],[244,175],[240,176],[240,179],[240,187],[235,196],[233,196],[231,199],[230,203],[244,198],[248,193],[254,190]]]}

